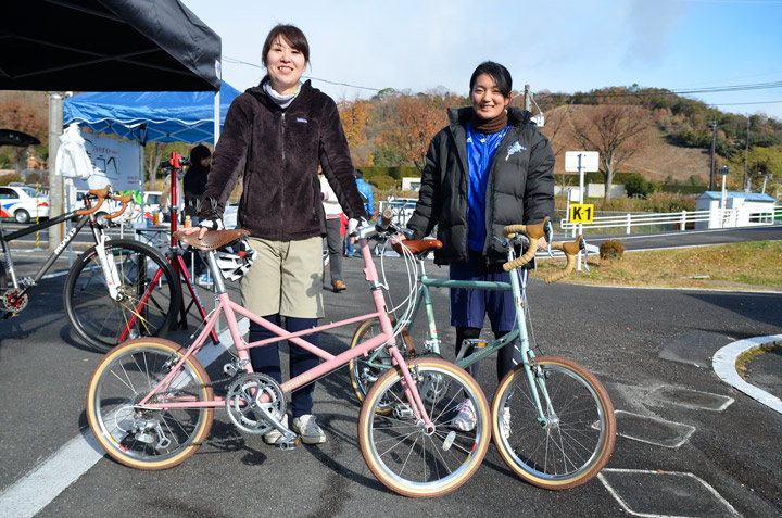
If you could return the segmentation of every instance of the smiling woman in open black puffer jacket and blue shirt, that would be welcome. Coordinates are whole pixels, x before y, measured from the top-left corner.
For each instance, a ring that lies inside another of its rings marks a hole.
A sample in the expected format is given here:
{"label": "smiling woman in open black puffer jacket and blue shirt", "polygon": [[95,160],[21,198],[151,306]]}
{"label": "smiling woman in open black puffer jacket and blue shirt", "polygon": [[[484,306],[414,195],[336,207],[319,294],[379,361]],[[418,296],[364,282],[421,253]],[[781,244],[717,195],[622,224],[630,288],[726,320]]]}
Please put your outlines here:
{"label": "smiling woman in open black puffer jacket and blue shirt", "polygon": [[[469,81],[472,105],[450,109],[449,126],[427,151],[418,203],[407,227],[413,239],[422,239],[438,225],[443,248],[434,251],[434,263],[450,265],[450,279],[510,282],[502,268],[505,248],[494,236],[502,236],[506,225],[533,225],[554,215],[554,154],[530,121],[532,114],[509,106],[512,86],[503,65],[478,65]],[[495,338],[506,334],[515,324],[513,294],[451,290],[457,355],[464,340],[480,336],[487,314]],[[497,379],[519,361],[515,351],[509,344],[497,352]],[[478,378],[478,364],[472,376]],[[454,422],[461,430],[475,427],[469,400],[462,403]],[[509,425],[509,409],[504,408],[503,433],[510,433]]]}

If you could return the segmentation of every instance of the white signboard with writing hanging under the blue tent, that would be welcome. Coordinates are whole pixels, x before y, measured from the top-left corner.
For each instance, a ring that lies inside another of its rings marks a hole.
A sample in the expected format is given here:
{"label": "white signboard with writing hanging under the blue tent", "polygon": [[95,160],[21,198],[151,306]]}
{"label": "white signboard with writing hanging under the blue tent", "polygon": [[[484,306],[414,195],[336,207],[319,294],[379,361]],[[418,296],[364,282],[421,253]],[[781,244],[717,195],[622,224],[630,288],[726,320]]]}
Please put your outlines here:
{"label": "white signboard with writing hanging under the blue tent", "polygon": [[84,180],[74,179],[74,187],[102,189],[111,185],[115,191],[138,190],[141,174],[138,143],[90,134],[81,134],[81,137],[94,173]]}

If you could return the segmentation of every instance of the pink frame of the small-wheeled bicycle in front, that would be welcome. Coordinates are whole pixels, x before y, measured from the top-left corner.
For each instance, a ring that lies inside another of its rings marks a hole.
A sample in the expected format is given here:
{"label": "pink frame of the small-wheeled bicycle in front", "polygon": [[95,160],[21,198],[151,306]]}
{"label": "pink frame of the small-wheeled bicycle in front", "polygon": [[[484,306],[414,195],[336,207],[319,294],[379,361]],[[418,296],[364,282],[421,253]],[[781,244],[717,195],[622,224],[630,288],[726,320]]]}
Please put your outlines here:
{"label": "pink frame of the small-wheeled bicycle in front", "polygon": [[[312,329],[306,329],[303,331],[298,332],[288,332],[286,329],[282,329],[281,327],[278,327],[268,320],[264,319],[261,316],[255,315],[254,313],[250,312],[249,309],[245,309],[240,304],[237,304],[236,302],[231,301],[228,296],[228,293],[225,288],[225,281],[222,275],[222,271],[217,267],[216,260],[215,260],[215,253],[213,251],[209,252],[207,260],[210,268],[212,269],[214,277],[215,277],[215,283],[217,286],[217,299],[218,299],[218,305],[215,308],[214,312],[206,318],[206,324],[204,328],[201,330],[201,333],[195,339],[192,345],[190,345],[187,350],[187,352],[182,355],[182,357],[179,359],[179,362],[172,368],[172,371],[163,378],[160,383],[149,393],[147,396],[139,402],[139,406],[143,406],[146,408],[176,408],[176,407],[184,407],[184,408],[193,408],[193,407],[219,407],[225,406],[226,399],[222,396],[216,396],[213,401],[204,401],[204,402],[194,402],[194,401],[175,401],[175,402],[165,402],[165,403],[150,403],[150,400],[154,397],[154,394],[157,393],[161,390],[166,389],[167,387],[171,387],[178,377],[178,374],[180,372],[180,367],[185,364],[188,357],[195,354],[201,346],[205,343],[206,338],[209,337],[209,333],[214,328],[215,324],[217,323],[220,315],[225,315],[226,321],[228,323],[228,328],[230,330],[231,338],[234,339],[234,344],[237,349],[238,356],[240,361],[247,363],[247,369],[248,372],[252,374],[252,364],[250,363],[250,354],[249,350],[256,346],[265,346],[269,345],[275,342],[279,342],[282,340],[288,340],[289,343],[292,343],[297,346],[303,348],[313,354],[317,355],[321,359],[324,359],[323,363],[320,363],[318,366],[307,370],[306,372],[303,372],[302,375],[290,379],[286,382],[283,382],[280,387],[283,391],[283,393],[290,393],[295,389],[299,389],[305,384],[312,383],[316,381],[318,378],[336,370],[337,368],[346,365],[351,359],[358,357],[364,354],[368,354],[369,351],[373,349],[376,349],[382,344],[388,345],[388,351],[391,357],[393,358],[393,364],[396,366],[400,366],[402,368],[402,375],[404,377],[404,390],[407,396],[408,402],[413,402],[413,412],[417,419],[424,420],[425,427],[433,430],[432,421],[430,420],[429,416],[427,415],[426,408],[421,402],[420,395],[417,390],[414,390],[416,387],[416,382],[413,379],[409,370],[407,369],[406,363],[404,361],[404,357],[400,353],[399,349],[396,348],[394,341],[393,341],[393,327],[391,325],[391,320],[389,316],[386,313],[386,299],[383,296],[382,287],[378,282],[378,275],[377,270],[375,268],[375,263],[371,260],[371,253],[369,252],[369,245],[367,244],[367,239],[362,238],[360,240],[360,248],[362,251],[362,255],[364,257],[364,266],[365,266],[365,278],[370,283],[370,291],[373,295],[373,301],[375,303],[375,312],[368,313],[366,315],[356,316],[353,318],[348,318],[344,320],[330,323],[321,326],[314,327]],[[247,343],[244,342],[241,332],[239,331],[239,326],[237,321],[237,314],[243,317],[249,318],[250,320],[263,326],[264,328],[273,331],[275,334],[277,334],[274,338],[269,338],[266,340],[261,340],[257,342],[251,342]],[[328,329],[333,329],[338,327],[348,326],[350,324],[356,324],[365,320],[369,320],[371,318],[378,318],[381,324],[382,332],[374,338],[370,338],[366,340],[365,342],[361,343],[360,345],[355,348],[348,349],[343,353],[339,355],[332,355],[320,348],[317,348],[310,342],[303,340],[301,337],[312,334],[319,331],[326,331]],[[264,396],[267,397],[267,396]]]}

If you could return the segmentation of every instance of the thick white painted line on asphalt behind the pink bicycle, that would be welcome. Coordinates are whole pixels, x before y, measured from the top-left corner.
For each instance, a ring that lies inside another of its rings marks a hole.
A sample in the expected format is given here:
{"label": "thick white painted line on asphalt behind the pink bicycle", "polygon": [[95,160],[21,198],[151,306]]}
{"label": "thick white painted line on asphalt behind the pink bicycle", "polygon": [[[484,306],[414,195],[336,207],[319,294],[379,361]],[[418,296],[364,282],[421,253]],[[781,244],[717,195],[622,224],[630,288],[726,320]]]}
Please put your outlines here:
{"label": "thick white painted line on asphalt behind the pink bicycle", "polygon": [[[239,321],[239,331],[242,334],[249,327],[247,318]],[[229,329],[220,332],[217,338],[219,338],[219,346],[206,345],[198,355],[199,362],[204,367],[234,344]],[[0,517],[35,516],[104,455],[105,452],[98,444],[92,431],[89,428],[84,429],[43,464],[0,493]]]}

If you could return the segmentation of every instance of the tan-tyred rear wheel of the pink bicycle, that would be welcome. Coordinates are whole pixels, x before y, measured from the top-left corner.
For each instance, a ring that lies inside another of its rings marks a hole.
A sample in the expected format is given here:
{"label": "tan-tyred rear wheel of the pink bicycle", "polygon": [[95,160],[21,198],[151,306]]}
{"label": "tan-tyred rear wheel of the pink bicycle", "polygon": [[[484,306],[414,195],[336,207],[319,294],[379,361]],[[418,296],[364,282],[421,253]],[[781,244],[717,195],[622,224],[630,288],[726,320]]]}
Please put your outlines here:
{"label": "tan-tyred rear wheel of the pink bicycle", "polygon": [[214,408],[209,375],[188,357],[172,381],[148,403],[192,406],[151,408],[139,403],[185,355],[174,342],[156,338],[130,340],[103,357],[87,388],[87,420],[103,450],[137,469],[167,469],[184,463],[209,435]]}

